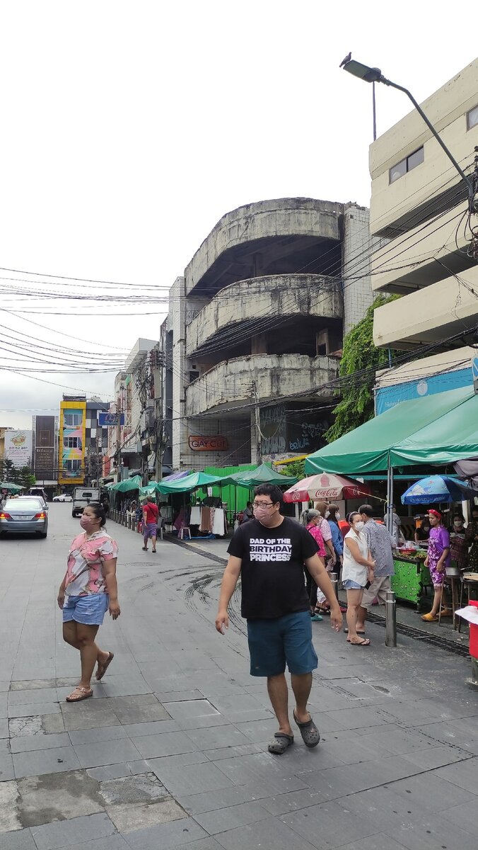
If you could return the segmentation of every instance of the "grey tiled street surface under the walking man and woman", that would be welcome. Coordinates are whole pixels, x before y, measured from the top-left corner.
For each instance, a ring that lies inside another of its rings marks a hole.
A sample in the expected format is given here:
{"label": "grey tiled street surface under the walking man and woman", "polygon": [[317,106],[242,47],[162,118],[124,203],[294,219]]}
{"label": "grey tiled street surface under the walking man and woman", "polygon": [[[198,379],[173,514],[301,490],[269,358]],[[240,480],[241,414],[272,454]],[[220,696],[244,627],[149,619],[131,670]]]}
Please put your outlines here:
{"label": "grey tiled street surface under the walking man and woman", "polygon": [[[267,752],[277,723],[250,677],[239,591],[214,628],[221,558],[119,543],[121,617],[94,696],[65,702],[79,658],[56,606],[78,520],[50,506],[46,540],[0,540],[2,850],[476,850],[478,691],[470,659],[399,635],[351,647],[313,623],[315,750]],[[216,559],[214,559],[216,558]]]}

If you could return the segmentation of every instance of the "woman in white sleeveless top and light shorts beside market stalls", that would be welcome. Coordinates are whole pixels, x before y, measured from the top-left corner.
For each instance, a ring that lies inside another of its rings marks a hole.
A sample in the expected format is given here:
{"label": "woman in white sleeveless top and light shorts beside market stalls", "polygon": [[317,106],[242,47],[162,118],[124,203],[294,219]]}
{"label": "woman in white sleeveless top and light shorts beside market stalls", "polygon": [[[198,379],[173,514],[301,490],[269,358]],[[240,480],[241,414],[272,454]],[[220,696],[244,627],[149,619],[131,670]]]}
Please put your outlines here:
{"label": "woman in white sleeveless top and light shorts beside market stalls", "polygon": [[363,589],[367,582],[374,581],[375,562],[368,549],[366,536],[363,534],[363,521],[360,513],[349,515],[350,531],[344,541],[344,565],[342,568],[342,585],[347,592],[347,641],[353,646],[369,646],[368,638],[357,634],[357,614],[363,597]]}

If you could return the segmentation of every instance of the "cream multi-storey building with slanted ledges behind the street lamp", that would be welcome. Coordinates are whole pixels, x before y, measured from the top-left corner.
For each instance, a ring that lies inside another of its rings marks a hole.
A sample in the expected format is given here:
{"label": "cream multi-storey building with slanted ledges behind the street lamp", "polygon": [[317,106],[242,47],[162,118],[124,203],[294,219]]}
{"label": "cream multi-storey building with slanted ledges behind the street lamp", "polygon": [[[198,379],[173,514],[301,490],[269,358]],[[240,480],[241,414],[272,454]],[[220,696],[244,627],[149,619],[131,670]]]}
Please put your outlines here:
{"label": "cream multi-storey building with slanted ledges behind the street lamp", "polygon": [[[475,59],[422,104],[467,174],[478,144],[477,79]],[[469,227],[478,218],[471,215],[469,222],[464,181],[417,111],[371,145],[370,174],[370,231],[380,240],[372,286],[375,294],[402,296],[375,310],[374,343],[403,351],[434,343],[437,353],[458,347],[458,360],[469,358],[463,346],[470,336],[449,341],[478,322],[478,265]],[[430,361],[430,369],[440,370],[446,361]],[[421,360],[421,377],[423,370]]]}

